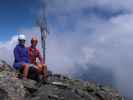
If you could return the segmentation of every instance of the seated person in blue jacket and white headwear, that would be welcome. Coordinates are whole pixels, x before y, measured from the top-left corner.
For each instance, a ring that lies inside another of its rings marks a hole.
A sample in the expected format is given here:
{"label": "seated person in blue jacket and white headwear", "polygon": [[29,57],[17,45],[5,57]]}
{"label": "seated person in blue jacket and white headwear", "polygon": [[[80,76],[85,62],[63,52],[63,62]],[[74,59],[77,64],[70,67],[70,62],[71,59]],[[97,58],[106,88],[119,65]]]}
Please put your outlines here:
{"label": "seated person in blue jacket and white headwear", "polygon": [[29,70],[28,49],[25,47],[25,35],[18,36],[18,44],[14,48],[14,68],[16,70],[23,69],[23,78],[27,79]]}

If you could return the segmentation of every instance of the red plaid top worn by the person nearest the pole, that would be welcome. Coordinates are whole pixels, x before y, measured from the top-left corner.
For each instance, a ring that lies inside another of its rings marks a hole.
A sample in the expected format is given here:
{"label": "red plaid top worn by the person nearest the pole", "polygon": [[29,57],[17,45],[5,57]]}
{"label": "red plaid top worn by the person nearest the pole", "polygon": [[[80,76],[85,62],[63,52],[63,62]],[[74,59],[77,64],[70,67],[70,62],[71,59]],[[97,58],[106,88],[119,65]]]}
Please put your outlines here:
{"label": "red plaid top worn by the person nearest the pole", "polygon": [[37,49],[37,48],[33,49],[33,48],[29,47],[28,52],[29,52],[29,59],[30,59],[31,64],[35,64],[37,58],[40,60],[41,64],[44,63],[39,49]]}

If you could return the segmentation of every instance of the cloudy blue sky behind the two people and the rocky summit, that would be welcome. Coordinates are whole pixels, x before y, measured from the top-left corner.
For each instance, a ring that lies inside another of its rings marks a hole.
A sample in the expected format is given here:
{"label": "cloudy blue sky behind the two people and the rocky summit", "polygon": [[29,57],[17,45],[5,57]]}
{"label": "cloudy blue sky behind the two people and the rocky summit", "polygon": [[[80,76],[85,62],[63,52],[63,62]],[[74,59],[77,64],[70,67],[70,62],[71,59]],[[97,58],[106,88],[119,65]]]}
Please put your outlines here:
{"label": "cloudy blue sky behind the two people and the rocky summit", "polygon": [[111,70],[116,87],[132,96],[132,0],[0,0],[0,59],[12,64],[18,32],[39,36],[35,20],[44,2],[49,68],[69,74],[76,64],[83,69],[91,67],[88,63],[100,66]]}

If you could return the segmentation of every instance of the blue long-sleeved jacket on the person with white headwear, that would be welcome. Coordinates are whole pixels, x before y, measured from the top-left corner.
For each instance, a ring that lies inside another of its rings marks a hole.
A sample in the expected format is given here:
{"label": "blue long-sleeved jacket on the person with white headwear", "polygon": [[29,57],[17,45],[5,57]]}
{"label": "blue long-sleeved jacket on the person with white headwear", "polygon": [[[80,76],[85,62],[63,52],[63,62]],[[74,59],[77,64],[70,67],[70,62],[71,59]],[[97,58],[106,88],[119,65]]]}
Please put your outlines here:
{"label": "blue long-sleeved jacket on the person with white headwear", "polygon": [[16,67],[18,64],[21,65],[30,62],[28,48],[20,44],[16,45],[16,47],[14,48],[14,57],[14,67]]}

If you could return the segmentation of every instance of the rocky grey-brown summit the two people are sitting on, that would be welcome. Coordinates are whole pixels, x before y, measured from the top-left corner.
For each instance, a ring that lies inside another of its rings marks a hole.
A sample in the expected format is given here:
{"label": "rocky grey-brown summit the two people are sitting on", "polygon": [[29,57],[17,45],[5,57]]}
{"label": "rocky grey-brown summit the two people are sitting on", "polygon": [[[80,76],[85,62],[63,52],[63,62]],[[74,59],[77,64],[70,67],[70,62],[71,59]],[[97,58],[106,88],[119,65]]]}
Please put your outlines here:
{"label": "rocky grey-brown summit the two people are sitting on", "polygon": [[8,64],[0,66],[0,100],[124,100],[118,91],[88,81],[50,74],[36,82],[16,78]]}

